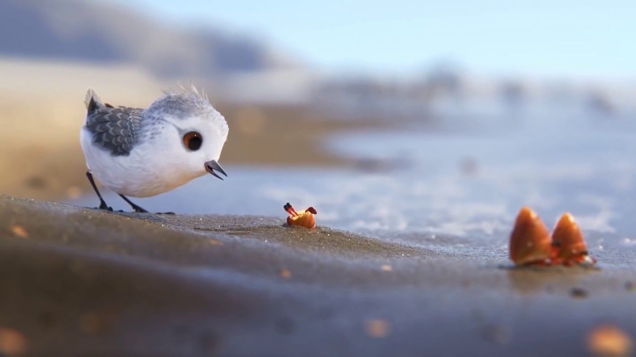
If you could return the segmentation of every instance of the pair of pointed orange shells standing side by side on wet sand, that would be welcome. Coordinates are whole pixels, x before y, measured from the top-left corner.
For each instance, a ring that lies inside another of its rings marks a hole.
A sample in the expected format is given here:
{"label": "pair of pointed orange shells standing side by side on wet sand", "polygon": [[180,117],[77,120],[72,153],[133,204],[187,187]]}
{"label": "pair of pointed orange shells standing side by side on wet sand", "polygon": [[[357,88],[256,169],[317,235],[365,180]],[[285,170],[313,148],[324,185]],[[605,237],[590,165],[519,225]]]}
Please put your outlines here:
{"label": "pair of pointed orange shells standing side by side on wet sand", "polygon": [[563,213],[550,235],[537,213],[523,207],[510,234],[510,259],[518,266],[593,265],[583,233],[570,213]]}

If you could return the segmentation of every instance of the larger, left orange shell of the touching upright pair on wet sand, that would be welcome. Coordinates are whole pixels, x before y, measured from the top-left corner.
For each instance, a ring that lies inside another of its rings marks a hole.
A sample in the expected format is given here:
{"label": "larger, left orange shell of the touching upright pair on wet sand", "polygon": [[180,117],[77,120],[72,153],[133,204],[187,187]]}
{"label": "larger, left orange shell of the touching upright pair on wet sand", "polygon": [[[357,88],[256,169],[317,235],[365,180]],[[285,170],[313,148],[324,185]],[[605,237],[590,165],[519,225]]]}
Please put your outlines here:
{"label": "larger, left orange shell of the touching upright pair on wet sand", "polygon": [[510,259],[521,266],[543,263],[551,258],[550,231],[529,207],[524,206],[510,234]]}

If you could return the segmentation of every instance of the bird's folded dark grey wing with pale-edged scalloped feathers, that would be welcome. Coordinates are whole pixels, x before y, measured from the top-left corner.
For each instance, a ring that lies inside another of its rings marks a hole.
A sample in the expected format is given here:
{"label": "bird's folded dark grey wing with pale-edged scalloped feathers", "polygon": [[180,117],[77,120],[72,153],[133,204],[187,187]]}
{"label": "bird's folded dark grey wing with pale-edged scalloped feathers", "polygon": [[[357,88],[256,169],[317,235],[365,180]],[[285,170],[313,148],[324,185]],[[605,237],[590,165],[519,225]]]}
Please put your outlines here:
{"label": "bird's folded dark grey wing with pale-edged scalloped feathers", "polygon": [[86,128],[93,135],[93,144],[113,156],[128,156],[139,140],[143,111],[131,107],[115,108],[109,104],[89,108]]}

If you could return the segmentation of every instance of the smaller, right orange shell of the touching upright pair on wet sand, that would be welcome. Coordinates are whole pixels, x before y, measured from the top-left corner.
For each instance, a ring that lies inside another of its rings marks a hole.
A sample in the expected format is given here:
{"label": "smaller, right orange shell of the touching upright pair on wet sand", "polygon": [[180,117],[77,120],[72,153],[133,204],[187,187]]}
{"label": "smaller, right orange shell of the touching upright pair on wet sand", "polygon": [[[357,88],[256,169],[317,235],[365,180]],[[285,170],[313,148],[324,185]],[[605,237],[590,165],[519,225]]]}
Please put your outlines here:
{"label": "smaller, right orange shell of the touching upright pair on wet sand", "polygon": [[557,257],[572,260],[587,255],[588,246],[583,240],[583,232],[570,213],[563,213],[552,233],[552,244],[558,249]]}

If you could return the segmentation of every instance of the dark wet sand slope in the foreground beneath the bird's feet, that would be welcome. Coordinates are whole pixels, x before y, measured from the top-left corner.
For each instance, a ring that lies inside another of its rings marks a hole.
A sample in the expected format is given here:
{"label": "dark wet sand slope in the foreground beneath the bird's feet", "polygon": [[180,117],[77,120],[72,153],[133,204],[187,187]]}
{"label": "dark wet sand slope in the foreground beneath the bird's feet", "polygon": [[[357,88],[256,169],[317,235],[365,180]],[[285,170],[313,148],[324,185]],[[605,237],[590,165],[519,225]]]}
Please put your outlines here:
{"label": "dark wet sand slope in the foreground beneath the bird's feet", "polygon": [[633,269],[513,269],[283,222],[4,196],[0,328],[31,356],[581,356],[602,323],[636,333]]}

